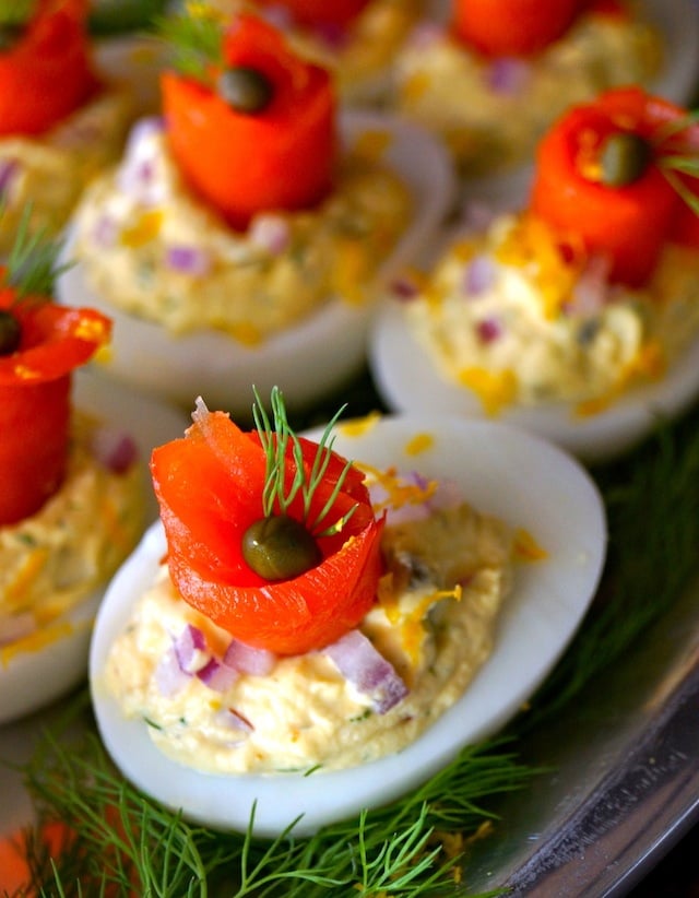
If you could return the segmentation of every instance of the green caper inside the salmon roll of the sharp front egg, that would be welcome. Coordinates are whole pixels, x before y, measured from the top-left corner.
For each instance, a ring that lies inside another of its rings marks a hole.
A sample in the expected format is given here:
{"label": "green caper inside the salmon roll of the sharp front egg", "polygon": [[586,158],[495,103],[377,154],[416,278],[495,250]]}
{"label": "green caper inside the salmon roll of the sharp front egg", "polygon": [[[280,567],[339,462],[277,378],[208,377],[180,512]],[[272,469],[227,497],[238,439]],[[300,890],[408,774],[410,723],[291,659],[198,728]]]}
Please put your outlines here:
{"label": "green caper inside the salmon roll of the sharp front egg", "polygon": [[270,515],[250,524],[242,536],[242,557],[265,580],[289,580],[322,560],[312,533],[287,515]]}

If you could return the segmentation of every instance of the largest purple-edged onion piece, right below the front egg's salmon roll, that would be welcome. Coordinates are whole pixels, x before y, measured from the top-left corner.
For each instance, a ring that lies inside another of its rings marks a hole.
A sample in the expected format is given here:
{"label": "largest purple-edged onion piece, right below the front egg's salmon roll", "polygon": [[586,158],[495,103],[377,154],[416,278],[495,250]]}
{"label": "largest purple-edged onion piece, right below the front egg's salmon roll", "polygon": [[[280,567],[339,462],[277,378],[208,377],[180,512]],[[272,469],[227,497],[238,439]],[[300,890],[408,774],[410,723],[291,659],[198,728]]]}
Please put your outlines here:
{"label": "largest purple-edged onion piece, right below the front egg's salmon roll", "polygon": [[360,630],[350,630],[323,651],[355,689],[371,699],[378,713],[386,713],[407,695],[393,665]]}

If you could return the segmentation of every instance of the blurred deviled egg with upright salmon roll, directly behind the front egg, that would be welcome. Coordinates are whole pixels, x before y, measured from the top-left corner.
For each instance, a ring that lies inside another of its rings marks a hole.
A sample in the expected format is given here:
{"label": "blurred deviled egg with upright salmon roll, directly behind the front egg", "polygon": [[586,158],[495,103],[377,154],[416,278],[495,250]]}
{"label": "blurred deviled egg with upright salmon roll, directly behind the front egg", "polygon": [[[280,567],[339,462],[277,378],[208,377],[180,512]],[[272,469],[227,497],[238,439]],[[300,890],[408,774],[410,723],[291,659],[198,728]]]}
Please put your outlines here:
{"label": "blurred deviled egg with upright salmon roll, directly behind the front egg", "polygon": [[[180,404],[202,392],[245,413],[251,383],[269,393],[279,382],[291,407],[307,405],[360,367],[378,284],[429,241],[451,168],[414,126],[378,114],[336,120],[328,73],[262,20],[221,28],[226,71],[251,55],[274,99],[237,111],[166,75],[165,120],[141,123],[81,203],[67,249],[76,264],[59,296],[108,309],[105,368],[132,385]],[[216,133],[199,133],[198,104]]]}

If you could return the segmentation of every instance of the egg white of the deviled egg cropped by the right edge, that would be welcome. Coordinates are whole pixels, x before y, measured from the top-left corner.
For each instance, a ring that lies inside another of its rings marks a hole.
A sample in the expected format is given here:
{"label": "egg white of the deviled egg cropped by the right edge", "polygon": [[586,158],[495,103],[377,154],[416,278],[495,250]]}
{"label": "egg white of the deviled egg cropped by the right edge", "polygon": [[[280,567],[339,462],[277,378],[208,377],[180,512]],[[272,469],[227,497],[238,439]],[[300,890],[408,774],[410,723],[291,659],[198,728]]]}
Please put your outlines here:
{"label": "egg white of the deviled egg cropped by the right edge", "polygon": [[[477,394],[447,381],[413,336],[400,304],[387,302],[369,341],[369,366],[387,405],[396,412],[440,412],[486,418]],[[571,403],[511,405],[498,420],[524,427],[578,456],[603,461],[630,449],[663,420],[672,418],[699,395],[699,340],[662,380],[629,389],[595,415],[579,416]]]}

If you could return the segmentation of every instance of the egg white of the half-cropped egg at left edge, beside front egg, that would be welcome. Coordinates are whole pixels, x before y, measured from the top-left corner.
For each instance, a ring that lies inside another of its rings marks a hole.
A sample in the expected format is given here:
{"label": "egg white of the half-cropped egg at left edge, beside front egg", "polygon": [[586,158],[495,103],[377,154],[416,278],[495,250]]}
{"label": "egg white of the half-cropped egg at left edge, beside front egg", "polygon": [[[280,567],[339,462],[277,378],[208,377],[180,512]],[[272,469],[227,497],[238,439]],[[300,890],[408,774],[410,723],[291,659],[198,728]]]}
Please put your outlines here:
{"label": "egg white of the half-cropped egg at left edge, beside front egg", "polygon": [[[122,428],[135,440],[147,497],[146,522],[151,523],[157,517],[147,472],[151,449],[181,435],[187,423],[185,416],[86,370],[75,375],[73,404]],[[0,723],[42,708],[85,677],[92,624],[105,587],[106,583],[94,590],[66,615],[70,625],[67,635],[39,650],[13,654],[7,664],[0,661]]]}

